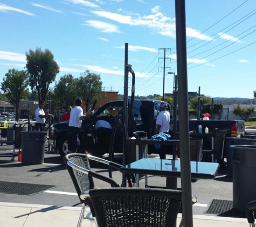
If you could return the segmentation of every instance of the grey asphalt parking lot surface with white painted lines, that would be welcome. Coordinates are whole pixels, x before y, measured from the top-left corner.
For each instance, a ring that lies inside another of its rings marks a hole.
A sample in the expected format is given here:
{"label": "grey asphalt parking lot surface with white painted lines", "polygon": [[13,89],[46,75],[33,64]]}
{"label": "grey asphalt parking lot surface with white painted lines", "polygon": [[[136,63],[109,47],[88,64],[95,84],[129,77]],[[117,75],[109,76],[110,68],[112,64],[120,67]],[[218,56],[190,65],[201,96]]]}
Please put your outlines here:
{"label": "grey asphalt parking lot surface with white painted lines", "polygon": [[[46,144],[47,145],[47,144]],[[0,154],[12,155],[13,145],[2,143]],[[34,152],[37,152],[36,150]],[[15,149],[18,154],[18,149]],[[149,155],[150,158],[159,158],[158,154]],[[107,154],[105,155],[107,159]],[[167,158],[168,155],[167,155]],[[122,154],[115,154],[115,161],[122,164]],[[108,169],[103,164],[91,162],[92,171],[108,176]],[[66,170],[63,159],[58,153],[51,152],[47,146],[44,153],[44,164],[24,165],[18,162],[18,157],[12,161],[11,157],[0,157],[0,176],[3,182],[12,182],[13,187],[7,192],[0,184],[0,202],[31,203],[43,205],[58,205],[80,207],[80,201],[70,176]],[[113,172],[113,178],[118,183],[122,182],[122,174],[119,171]],[[20,187],[18,183],[27,183],[30,188],[39,187],[35,193],[26,193],[27,188]],[[165,178],[160,176],[148,176],[149,186],[165,186]],[[232,178],[227,176],[226,164],[220,166],[218,175],[214,180],[198,180],[192,184],[192,194],[197,196],[197,203],[193,205],[193,214],[212,216],[236,216],[245,217],[232,209],[233,183]],[[101,181],[95,180],[96,187],[108,186]],[[41,189],[45,186],[46,189]],[[140,186],[144,186],[144,177],[140,180]],[[18,187],[18,188],[16,188]],[[20,188],[19,188],[20,187]],[[181,180],[178,178],[178,187],[181,187]],[[220,210],[211,210],[213,202],[217,203]],[[230,207],[231,206],[231,207]]]}

